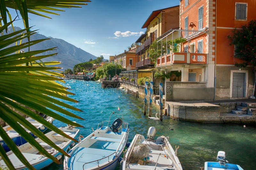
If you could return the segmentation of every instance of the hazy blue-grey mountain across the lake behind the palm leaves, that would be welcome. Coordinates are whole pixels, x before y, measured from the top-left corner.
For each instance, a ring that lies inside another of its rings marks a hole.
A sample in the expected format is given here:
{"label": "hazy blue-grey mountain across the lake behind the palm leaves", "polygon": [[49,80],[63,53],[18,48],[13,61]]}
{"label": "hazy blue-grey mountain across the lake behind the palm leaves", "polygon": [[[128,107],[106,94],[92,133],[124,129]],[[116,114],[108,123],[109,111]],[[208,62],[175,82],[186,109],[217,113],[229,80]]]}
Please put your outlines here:
{"label": "hazy blue-grey mountain across the lake behind the palm leaves", "polygon": [[[14,27],[15,31],[21,30],[20,27]],[[4,31],[5,32],[5,31]],[[13,32],[12,27],[8,27],[8,33]],[[30,40],[36,40],[36,39],[45,39],[50,38],[49,40],[45,40],[43,42],[40,42],[36,45],[33,45],[30,47],[30,50],[39,50],[39,49],[48,49],[52,47],[58,47],[57,50],[54,51],[48,51],[45,53],[41,53],[43,55],[50,54],[50,53],[58,53],[56,56],[51,56],[44,58],[43,61],[61,61],[61,64],[58,64],[56,66],[62,67],[63,69],[60,69],[61,71],[64,71],[64,69],[73,69],[74,65],[82,62],[86,62],[90,59],[94,60],[97,57],[82,50],[81,48],[77,48],[76,46],[64,41],[63,39],[56,39],[52,37],[46,37],[42,34],[36,33],[30,37]],[[24,42],[26,42],[25,40]],[[14,45],[14,44],[13,44]],[[23,49],[22,49],[23,50]],[[28,51],[28,49],[24,49],[24,51]]]}

